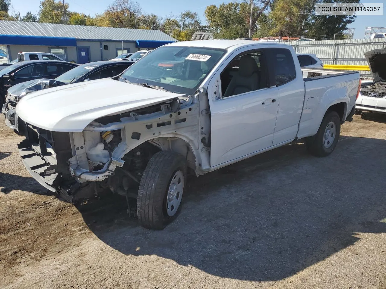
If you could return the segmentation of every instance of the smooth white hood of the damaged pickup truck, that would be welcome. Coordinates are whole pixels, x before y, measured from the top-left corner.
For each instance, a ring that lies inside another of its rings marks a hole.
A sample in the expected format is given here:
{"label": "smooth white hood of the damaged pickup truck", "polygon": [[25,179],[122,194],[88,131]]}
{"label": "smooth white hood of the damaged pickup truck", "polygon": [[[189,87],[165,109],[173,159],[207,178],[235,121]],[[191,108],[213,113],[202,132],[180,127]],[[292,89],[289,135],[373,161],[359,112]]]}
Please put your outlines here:
{"label": "smooth white hood of the damaged pickup truck", "polygon": [[183,96],[173,92],[107,79],[68,84],[23,97],[16,113],[25,122],[49,131],[76,132],[91,121]]}

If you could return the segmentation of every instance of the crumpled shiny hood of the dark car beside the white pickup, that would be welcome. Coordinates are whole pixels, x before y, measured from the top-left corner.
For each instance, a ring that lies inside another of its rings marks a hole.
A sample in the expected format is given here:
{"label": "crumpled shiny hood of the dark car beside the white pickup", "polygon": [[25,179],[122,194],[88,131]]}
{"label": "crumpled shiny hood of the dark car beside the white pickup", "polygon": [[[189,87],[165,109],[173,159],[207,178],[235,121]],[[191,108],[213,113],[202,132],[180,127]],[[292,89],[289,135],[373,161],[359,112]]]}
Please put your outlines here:
{"label": "crumpled shiny hood of the dark car beside the white pickup", "polygon": [[46,88],[62,86],[66,83],[61,81],[56,81],[55,79],[41,78],[34,79],[22,83],[15,84],[14,86],[8,89],[8,93],[13,96],[15,101],[20,100],[22,97],[30,94],[34,91],[43,90]]}

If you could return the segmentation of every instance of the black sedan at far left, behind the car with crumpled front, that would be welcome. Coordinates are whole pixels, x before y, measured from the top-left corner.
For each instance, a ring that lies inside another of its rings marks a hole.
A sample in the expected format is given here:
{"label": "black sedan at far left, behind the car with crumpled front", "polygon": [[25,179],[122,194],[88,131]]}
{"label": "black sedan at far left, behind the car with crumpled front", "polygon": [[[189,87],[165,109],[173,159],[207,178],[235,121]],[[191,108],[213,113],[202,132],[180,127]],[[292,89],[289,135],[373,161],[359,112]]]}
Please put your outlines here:
{"label": "black sedan at far left, behind the car with crumpled front", "polygon": [[0,70],[0,108],[3,108],[7,90],[15,84],[43,77],[54,79],[76,66],[78,64],[65,61],[30,60]]}

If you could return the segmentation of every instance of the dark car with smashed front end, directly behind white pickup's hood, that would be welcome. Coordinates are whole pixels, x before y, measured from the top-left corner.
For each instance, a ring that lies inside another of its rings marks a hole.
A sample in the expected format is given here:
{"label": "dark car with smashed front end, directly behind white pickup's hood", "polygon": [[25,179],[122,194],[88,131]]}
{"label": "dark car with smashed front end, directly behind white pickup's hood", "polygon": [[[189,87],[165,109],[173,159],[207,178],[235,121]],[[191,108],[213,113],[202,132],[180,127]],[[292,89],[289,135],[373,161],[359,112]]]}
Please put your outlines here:
{"label": "dark car with smashed front end, directly behind white pickup's hood", "polygon": [[3,106],[5,123],[11,129],[15,129],[19,133],[22,133],[23,129],[19,126],[15,108],[17,102],[31,92],[70,83],[118,76],[131,64],[132,63],[130,62],[122,60],[88,62],[63,73],[55,79],[41,78],[16,84],[8,89],[7,98]]}

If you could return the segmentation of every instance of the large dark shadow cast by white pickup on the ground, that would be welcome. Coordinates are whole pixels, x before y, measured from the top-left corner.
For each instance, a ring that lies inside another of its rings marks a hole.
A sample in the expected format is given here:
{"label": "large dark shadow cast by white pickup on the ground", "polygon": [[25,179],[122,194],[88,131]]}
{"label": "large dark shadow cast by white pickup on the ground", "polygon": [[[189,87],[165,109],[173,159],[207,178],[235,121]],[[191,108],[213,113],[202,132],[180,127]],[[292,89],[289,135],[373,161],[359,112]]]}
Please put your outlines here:
{"label": "large dark shadow cast by white pickup on the ground", "polygon": [[219,277],[280,280],[362,233],[386,232],[385,145],[342,136],[331,156],[315,158],[303,144],[289,144],[191,177],[181,214],[163,231],[139,227],[122,200],[111,201],[122,210],[112,213],[108,205],[82,214],[123,254],[157,255]]}

